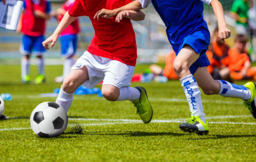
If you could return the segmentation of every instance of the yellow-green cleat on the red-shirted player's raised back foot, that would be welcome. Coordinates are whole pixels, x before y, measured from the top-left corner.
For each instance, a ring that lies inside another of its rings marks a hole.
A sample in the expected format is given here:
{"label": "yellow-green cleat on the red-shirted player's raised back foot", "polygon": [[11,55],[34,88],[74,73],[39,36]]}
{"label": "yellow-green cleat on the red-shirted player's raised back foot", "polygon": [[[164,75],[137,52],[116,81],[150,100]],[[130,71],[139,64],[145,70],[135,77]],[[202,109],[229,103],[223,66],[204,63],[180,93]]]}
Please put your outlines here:
{"label": "yellow-green cleat on the red-shirted player's raised back foot", "polygon": [[153,109],[148,101],[147,92],[143,87],[135,87],[141,92],[138,100],[133,101],[134,106],[137,108],[137,113],[144,123],[149,123],[153,116]]}

